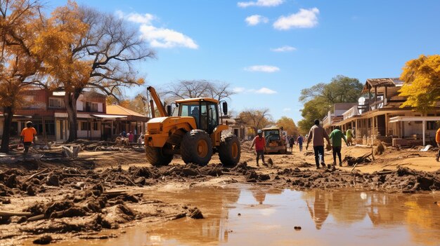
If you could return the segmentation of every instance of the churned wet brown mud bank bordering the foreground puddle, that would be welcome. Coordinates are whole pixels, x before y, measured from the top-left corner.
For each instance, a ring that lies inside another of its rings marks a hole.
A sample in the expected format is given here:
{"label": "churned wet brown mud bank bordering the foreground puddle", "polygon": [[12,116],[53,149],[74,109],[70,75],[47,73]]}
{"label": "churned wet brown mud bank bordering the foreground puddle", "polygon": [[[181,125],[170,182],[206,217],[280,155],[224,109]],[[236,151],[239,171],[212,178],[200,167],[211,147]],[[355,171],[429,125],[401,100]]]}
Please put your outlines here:
{"label": "churned wet brown mud bank bordering the foreground puddle", "polygon": [[[13,168],[0,172],[0,242],[17,245],[26,238],[59,242],[65,238],[113,238],[97,232],[190,218],[205,212],[188,203],[145,197],[168,187],[216,184],[257,184],[278,189],[309,191],[385,191],[417,193],[440,190],[440,171],[408,168],[363,174],[336,168],[254,168],[246,162],[233,168],[221,164],[166,167]],[[209,196],[207,199],[211,199]],[[10,214],[10,213],[13,214]],[[9,214],[8,214],[9,213]],[[47,236],[50,235],[51,238]]]}

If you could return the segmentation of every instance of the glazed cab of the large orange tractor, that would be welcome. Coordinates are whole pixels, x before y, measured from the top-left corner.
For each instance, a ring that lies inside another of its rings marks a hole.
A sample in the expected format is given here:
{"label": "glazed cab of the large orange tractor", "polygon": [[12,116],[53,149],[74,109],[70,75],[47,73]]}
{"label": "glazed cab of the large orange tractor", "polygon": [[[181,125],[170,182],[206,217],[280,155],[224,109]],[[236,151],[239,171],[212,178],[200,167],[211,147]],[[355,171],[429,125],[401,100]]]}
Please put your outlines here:
{"label": "glazed cab of the large orange tractor", "polygon": [[193,98],[178,100],[179,116],[190,116],[195,118],[197,128],[211,134],[219,125],[219,102],[212,98]]}

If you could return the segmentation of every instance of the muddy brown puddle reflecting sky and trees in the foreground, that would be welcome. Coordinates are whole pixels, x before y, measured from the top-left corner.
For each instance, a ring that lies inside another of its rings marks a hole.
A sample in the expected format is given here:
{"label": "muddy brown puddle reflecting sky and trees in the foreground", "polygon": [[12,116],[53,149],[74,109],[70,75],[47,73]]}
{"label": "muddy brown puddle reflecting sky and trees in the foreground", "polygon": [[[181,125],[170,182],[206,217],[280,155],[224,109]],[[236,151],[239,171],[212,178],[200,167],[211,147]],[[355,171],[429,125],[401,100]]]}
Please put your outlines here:
{"label": "muddy brown puddle reflecting sky and trees in the foreground", "polygon": [[[437,245],[440,194],[200,186],[145,198],[197,206],[205,219],[138,224],[108,240],[56,245]],[[300,226],[301,229],[295,229]],[[32,244],[32,242],[31,242]]]}

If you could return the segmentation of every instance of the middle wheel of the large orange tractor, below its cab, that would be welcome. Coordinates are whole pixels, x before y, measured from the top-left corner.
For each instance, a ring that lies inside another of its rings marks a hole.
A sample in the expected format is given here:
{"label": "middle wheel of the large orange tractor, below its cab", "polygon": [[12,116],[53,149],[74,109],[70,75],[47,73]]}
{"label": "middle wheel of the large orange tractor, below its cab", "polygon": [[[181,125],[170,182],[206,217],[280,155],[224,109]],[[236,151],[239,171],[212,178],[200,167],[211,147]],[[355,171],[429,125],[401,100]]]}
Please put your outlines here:
{"label": "middle wheel of the large orange tractor, below its cab", "polygon": [[204,130],[191,130],[183,136],[181,156],[185,163],[207,165],[212,156],[212,142]]}

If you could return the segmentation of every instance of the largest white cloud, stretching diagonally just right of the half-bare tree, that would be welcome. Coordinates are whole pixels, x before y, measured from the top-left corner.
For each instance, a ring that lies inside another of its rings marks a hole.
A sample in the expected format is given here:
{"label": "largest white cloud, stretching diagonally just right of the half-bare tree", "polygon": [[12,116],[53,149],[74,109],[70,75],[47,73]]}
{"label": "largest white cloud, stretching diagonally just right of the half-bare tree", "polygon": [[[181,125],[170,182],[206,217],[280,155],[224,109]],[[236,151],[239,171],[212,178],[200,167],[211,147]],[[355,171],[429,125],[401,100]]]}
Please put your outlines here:
{"label": "largest white cloud, stretching diagonally just right of the half-bare tree", "polygon": [[116,11],[115,14],[119,18],[127,19],[129,22],[141,24],[139,31],[143,39],[150,43],[150,46],[156,48],[175,48],[185,47],[197,49],[198,44],[193,41],[189,36],[181,32],[177,32],[173,29],[167,29],[162,27],[155,27],[152,21],[155,20],[155,16],[150,13],[143,15],[138,13],[125,14],[122,11]]}

